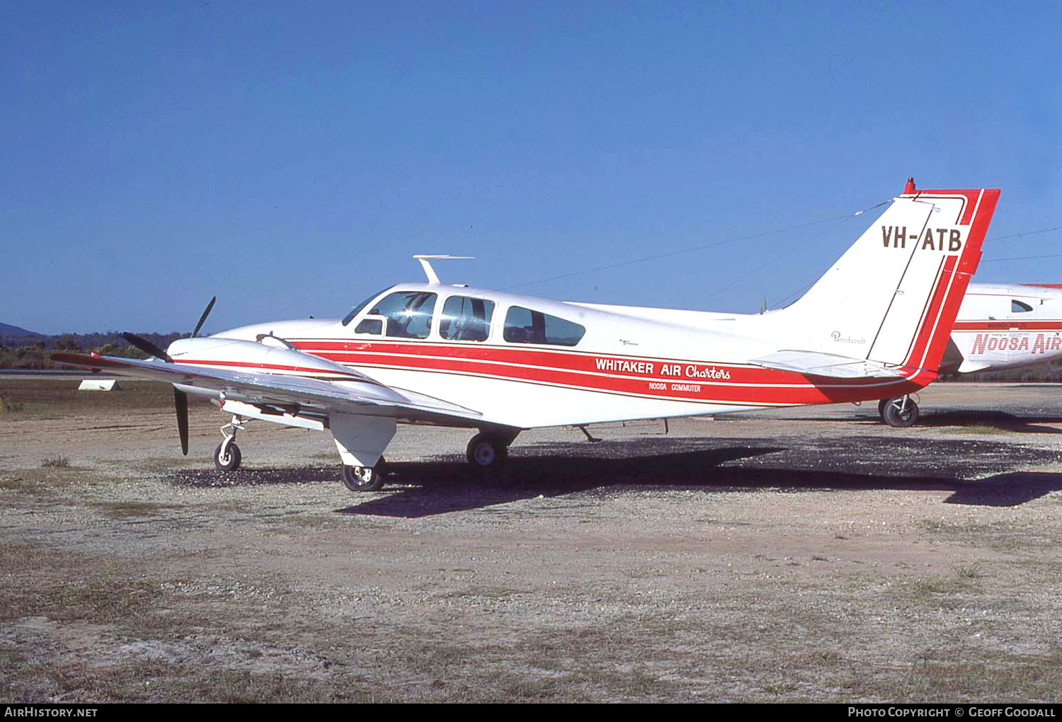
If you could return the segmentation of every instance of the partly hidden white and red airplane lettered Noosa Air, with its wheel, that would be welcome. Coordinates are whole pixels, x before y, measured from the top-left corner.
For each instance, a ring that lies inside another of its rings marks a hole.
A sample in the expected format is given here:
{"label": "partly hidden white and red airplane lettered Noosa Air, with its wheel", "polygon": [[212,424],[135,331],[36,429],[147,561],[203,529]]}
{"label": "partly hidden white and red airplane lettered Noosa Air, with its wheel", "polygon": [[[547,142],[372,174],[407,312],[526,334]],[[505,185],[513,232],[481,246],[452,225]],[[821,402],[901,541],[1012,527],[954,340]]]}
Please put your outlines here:
{"label": "partly hidden white and red airplane lettered Noosa Air, with its wheel", "polygon": [[[959,306],[941,374],[1006,371],[1062,359],[1062,286],[971,283]],[[878,413],[908,427],[919,406],[908,396],[881,399]]]}

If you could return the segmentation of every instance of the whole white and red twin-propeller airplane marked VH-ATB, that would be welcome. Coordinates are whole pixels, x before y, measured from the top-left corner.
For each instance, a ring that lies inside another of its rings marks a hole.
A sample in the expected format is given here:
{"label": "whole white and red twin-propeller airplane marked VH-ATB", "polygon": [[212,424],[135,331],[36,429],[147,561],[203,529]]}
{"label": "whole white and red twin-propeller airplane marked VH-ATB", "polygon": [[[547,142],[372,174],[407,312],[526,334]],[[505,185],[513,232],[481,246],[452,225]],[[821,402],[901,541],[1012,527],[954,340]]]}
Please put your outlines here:
{"label": "whole white and red twin-propeller airplane marked VH-ATB", "polygon": [[[56,360],[174,386],[232,414],[215,451],[235,469],[247,419],[327,429],[354,491],[383,484],[397,422],[478,429],[480,469],[524,429],[876,400],[937,379],[998,190],[904,193],[798,302],[755,315],[547,300],[440,281],[373,294],[343,319],[279,321],[179,339],[133,334],[145,361]],[[211,300],[211,306],[212,306]],[[225,431],[228,429],[229,431]]]}

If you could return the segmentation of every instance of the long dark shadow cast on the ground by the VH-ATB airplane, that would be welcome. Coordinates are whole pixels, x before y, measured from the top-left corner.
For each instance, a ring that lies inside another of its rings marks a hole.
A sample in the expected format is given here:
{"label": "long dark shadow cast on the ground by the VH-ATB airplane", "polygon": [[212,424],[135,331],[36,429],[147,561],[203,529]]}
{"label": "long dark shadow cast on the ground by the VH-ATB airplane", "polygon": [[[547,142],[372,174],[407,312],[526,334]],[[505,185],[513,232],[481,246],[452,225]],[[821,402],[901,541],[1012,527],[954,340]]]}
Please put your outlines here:
{"label": "long dark shadow cast on the ground by the VH-ATB airplane", "polygon": [[[680,443],[675,443],[680,442]],[[689,443],[692,442],[692,443]],[[603,442],[587,453],[585,446],[536,445],[513,455],[504,472],[478,478],[463,459],[392,463],[390,487],[383,496],[337,510],[340,514],[418,518],[483,509],[535,497],[573,493],[615,494],[624,488],[654,486],[698,489],[705,494],[735,494],[771,488],[783,493],[830,491],[941,491],[952,495],[944,503],[1013,506],[1062,491],[1062,474],[1004,471],[976,481],[948,478],[941,472],[911,470],[902,463],[890,472],[854,474],[810,468],[774,467],[753,461],[776,452],[778,446],[703,448],[704,442],[675,440],[667,444]],[[649,452],[656,447],[656,452]],[[679,449],[674,447],[679,446]],[[700,446],[701,448],[689,448]],[[945,447],[941,447],[943,451]],[[819,451],[810,449],[805,460]],[[902,455],[901,455],[902,459]],[[788,460],[787,460],[788,461]],[[733,462],[739,462],[735,464]],[[904,470],[908,475],[904,476]]]}

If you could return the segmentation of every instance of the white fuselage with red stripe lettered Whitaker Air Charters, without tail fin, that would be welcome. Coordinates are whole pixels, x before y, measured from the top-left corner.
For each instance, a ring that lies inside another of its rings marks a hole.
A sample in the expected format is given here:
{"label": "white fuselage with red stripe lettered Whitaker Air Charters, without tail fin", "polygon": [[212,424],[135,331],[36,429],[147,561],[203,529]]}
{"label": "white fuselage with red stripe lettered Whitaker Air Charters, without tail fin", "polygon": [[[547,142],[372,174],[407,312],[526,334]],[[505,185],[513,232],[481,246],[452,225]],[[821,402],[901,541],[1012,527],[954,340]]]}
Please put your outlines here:
{"label": "white fuselage with red stripe lettered Whitaker Air Charters, without tail fin", "polygon": [[[863,400],[908,393],[936,378],[915,369],[898,379],[809,379],[749,363],[799,347],[786,341],[798,343],[805,330],[770,312],[597,306],[401,283],[344,320],[255,324],[209,339],[290,344],[399,393],[460,403],[484,424],[516,428]],[[188,361],[181,347],[171,354]]]}

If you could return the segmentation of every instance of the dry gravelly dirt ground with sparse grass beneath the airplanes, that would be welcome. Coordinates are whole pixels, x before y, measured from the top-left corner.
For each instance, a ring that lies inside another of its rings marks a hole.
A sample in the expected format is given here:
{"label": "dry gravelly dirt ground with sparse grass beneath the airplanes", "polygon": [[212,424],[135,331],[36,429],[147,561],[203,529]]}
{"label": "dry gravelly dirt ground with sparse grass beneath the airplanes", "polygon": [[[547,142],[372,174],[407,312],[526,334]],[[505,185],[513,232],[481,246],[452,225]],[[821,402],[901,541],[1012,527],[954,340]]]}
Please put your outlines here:
{"label": "dry gravelly dirt ground with sparse grass beneath the airplanes", "polygon": [[1062,700],[1062,388],[526,432],[328,434],[0,378],[0,701]]}

